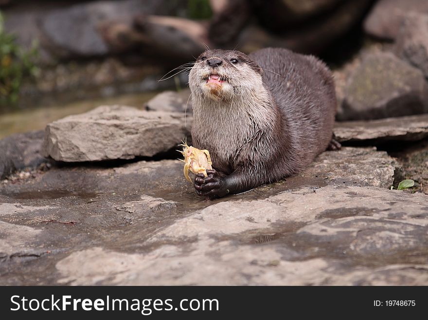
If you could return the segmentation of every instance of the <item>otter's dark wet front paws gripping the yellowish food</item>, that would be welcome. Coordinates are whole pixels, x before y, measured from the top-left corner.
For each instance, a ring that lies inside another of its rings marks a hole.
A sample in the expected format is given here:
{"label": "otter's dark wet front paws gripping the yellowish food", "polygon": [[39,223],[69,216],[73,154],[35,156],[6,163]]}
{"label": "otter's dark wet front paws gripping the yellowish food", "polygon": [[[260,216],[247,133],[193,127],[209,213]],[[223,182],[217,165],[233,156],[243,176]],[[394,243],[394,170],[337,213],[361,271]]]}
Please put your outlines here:
{"label": "otter's dark wet front paws gripping the yellowish food", "polygon": [[224,178],[220,177],[217,171],[207,170],[207,174],[207,177],[204,177],[203,173],[199,173],[195,177],[194,186],[198,195],[217,198],[229,193],[229,190],[225,188]]}

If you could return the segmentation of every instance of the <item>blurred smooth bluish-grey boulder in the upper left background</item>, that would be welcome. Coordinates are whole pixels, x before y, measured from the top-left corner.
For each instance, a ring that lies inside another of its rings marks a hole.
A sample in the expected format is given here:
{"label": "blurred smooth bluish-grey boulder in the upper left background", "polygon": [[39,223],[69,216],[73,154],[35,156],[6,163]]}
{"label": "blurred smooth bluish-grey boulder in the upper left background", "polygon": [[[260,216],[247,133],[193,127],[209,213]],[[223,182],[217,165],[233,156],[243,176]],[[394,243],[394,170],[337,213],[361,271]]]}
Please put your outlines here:
{"label": "blurred smooth bluish-grey boulder in the upper left background", "polygon": [[[132,21],[138,14],[166,14],[165,1],[95,1],[50,11],[40,19],[42,44],[59,57],[104,56],[110,53],[99,27],[106,21]],[[174,10],[173,10],[174,11]]]}

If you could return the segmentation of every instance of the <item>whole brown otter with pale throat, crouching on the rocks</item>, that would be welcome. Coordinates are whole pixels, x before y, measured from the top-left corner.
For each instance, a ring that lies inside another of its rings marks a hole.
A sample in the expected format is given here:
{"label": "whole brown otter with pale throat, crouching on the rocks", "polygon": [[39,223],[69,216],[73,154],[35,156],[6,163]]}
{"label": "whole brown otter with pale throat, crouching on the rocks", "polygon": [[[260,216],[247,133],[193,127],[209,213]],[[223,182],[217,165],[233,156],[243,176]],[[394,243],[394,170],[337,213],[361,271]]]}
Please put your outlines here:
{"label": "whole brown otter with pale throat, crouching on the rocks", "polygon": [[213,170],[195,177],[208,198],[241,193],[295,175],[333,139],[336,92],[315,56],[283,48],[246,55],[208,50],[189,74],[192,144],[210,151]]}

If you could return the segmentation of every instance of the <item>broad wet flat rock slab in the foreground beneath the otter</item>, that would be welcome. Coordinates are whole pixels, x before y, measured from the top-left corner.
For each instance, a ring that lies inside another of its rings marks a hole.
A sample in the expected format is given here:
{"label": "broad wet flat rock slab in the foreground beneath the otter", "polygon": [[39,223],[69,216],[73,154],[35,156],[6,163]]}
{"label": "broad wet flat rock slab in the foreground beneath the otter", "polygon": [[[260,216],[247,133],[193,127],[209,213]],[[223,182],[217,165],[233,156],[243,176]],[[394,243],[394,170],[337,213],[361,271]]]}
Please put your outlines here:
{"label": "broad wet flat rock slab in the foreground beneath the otter", "polygon": [[343,148],[207,202],[178,160],[54,167],[0,185],[0,284],[426,285],[428,196],[393,172]]}

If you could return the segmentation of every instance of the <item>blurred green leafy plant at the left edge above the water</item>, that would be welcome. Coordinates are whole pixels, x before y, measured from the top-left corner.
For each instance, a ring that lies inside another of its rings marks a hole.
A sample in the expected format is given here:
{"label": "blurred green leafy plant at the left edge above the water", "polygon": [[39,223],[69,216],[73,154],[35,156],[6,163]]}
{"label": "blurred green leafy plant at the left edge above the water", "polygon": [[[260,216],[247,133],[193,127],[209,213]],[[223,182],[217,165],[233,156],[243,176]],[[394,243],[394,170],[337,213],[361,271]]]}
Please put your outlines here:
{"label": "blurred green leafy plant at the left edge above the water", "polygon": [[6,33],[0,13],[0,107],[17,104],[23,79],[37,72],[36,56],[36,44],[24,50],[15,36]]}

